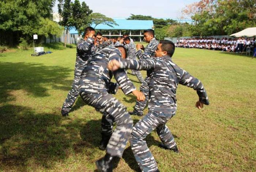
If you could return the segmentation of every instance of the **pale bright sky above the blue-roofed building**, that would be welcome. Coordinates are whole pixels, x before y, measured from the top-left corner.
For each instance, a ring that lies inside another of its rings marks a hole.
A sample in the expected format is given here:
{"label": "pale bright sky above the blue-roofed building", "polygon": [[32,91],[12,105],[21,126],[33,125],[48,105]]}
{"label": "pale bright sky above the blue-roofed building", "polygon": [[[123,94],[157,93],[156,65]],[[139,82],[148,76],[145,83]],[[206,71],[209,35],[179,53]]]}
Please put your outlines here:
{"label": "pale bright sky above the blue-roofed building", "polygon": [[[199,0],[79,0],[85,1],[93,12],[107,17],[129,17],[131,14],[146,15],[155,18],[181,17],[186,5]],[[53,12],[57,12],[56,0]]]}

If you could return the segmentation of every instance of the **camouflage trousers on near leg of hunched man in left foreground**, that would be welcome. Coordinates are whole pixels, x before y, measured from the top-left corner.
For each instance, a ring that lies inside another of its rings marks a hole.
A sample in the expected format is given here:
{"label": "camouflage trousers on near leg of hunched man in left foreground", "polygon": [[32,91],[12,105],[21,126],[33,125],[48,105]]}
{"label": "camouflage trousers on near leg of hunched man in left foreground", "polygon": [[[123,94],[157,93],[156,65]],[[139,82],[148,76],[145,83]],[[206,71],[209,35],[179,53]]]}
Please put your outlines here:
{"label": "camouflage trousers on near leg of hunched man in left foreground", "polygon": [[[86,89],[88,89],[88,87]],[[133,126],[132,118],[126,111],[126,107],[107,91],[90,93],[85,91],[85,88],[80,87],[79,93],[85,103],[93,106],[97,111],[101,112],[103,116],[106,116],[106,120],[112,119],[113,122],[116,123],[116,129],[110,137],[106,151],[111,156],[121,157],[131,135]],[[105,127],[107,128],[108,126],[105,125]],[[105,133],[107,132],[105,131]]]}

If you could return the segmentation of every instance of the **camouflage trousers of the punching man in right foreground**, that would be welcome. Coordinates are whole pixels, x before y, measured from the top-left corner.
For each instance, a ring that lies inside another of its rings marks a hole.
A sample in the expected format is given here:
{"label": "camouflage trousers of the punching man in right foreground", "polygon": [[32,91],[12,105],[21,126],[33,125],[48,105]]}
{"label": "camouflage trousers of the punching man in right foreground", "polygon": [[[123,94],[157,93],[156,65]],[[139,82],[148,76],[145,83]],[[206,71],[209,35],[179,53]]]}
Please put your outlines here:
{"label": "camouflage trousers of the punching man in right foreground", "polygon": [[165,125],[174,116],[175,112],[149,112],[133,127],[130,144],[133,155],[142,172],[157,171],[157,162],[147,147],[145,138],[157,129],[157,134],[164,145],[168,148],[176,146],[171,131]]}

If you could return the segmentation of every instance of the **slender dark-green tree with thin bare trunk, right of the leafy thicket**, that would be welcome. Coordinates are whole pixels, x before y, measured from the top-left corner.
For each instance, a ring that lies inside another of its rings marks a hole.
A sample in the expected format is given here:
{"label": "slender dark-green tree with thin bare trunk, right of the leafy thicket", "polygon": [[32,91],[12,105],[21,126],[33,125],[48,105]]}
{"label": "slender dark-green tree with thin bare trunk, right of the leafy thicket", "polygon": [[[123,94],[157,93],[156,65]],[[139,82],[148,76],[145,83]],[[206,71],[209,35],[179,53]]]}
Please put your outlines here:
{"label": "slender dark-green tree with thin bare trunk, right of the leafy thicket", "polygon": [[59,24],[63,26],[66,30],[64,47],[66,47],[67,34],[69,29],[75,26],[75,23],[72,17],[72,6],[73,6],[73,3],[71,2],[71,0],[59,0],[58,12],[59,12],[59,15],[61,15],[62,17],[62,20],[59,21]]}

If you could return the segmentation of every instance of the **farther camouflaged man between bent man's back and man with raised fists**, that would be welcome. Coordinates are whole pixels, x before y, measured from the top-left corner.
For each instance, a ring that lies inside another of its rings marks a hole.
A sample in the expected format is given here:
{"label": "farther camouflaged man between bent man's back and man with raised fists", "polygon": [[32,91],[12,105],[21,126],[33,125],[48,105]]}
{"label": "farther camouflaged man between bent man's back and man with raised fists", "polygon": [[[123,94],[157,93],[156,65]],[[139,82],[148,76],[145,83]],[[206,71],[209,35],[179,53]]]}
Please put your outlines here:
{"label": "farther camouflaged man between bent man's back and man with raised fists", "polygon": [[[128,59],[136,59],[135,53],[136,53],[136,46],[133,42],[131,42],[131,39],[129,37],[124,38],[125,42],[125,48],[127,49],[127,58]],[[132,70],[132,72],[136,75],[140,83],[144,81],[142,74],[140,71]]]}

